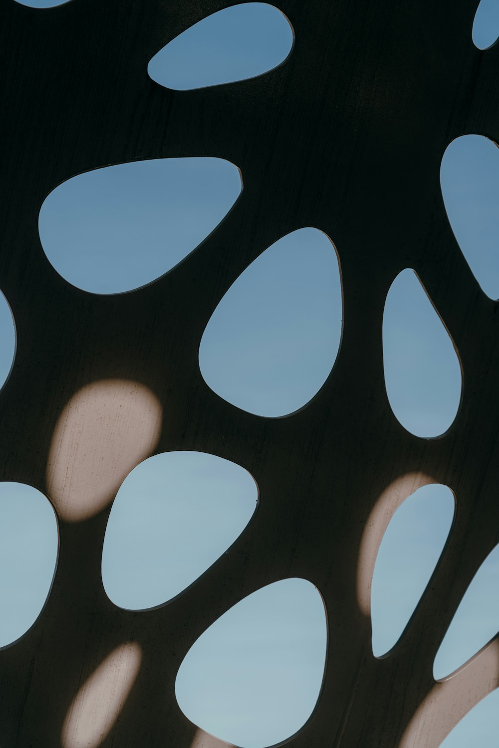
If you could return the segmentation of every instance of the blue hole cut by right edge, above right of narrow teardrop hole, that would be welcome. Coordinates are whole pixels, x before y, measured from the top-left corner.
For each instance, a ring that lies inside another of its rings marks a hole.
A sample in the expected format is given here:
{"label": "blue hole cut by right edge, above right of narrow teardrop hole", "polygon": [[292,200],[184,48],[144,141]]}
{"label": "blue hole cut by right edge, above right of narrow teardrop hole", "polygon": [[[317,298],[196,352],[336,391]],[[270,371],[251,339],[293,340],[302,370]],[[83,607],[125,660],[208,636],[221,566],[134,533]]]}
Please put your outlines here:
{"label": "blue hole cut by right edge, above right of narrow teardrop hole", "polygon": [[[498,4],[499,8],[499,4]],[[482,135],[463,135],[444,153],[440,184],[462,254],[483,292],[499,297],[499,150]]]}

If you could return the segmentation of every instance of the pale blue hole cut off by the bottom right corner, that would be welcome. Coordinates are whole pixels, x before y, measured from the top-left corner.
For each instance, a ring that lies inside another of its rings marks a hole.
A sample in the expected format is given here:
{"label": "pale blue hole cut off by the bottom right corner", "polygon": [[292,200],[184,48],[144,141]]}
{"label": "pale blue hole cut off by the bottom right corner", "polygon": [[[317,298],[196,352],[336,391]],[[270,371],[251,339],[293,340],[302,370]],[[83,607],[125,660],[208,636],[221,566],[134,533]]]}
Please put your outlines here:
{"label": "pale blue hole cut off by the bottom right corner", "polygon": [[489,693],[466,714],[440,748],[498,748],[499,689]]}

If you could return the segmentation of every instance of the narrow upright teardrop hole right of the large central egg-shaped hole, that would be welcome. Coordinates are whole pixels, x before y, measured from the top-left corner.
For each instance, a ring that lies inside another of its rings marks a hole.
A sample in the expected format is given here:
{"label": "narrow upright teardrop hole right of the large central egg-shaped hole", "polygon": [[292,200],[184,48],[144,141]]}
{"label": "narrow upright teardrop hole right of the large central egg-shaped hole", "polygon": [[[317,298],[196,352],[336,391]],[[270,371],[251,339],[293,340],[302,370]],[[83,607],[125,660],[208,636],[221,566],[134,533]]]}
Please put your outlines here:
{"label": "narrow upright teardrop hole right of the large central egg-shaped hole", "polygon": [[461,367],[452,340],[417,275],[402,270],[385,301],[383,363],[388,400],[415,436],[447,431],[461,399]]}

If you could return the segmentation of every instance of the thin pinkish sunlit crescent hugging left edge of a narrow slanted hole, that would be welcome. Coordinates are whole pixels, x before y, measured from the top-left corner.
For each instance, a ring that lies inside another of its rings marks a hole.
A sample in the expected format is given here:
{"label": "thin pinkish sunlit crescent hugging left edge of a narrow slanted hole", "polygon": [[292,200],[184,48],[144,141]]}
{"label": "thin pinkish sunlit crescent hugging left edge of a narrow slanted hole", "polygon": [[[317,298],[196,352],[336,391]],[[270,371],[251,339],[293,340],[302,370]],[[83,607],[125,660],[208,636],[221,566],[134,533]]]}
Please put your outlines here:
{"label": "thin pinkish sunlit crescent hugging left edge of a narrow slanted hole", "polygon": [[425,473],[405,473],[383,491],[370,513],[359,545],[357,567],[357,601],[364,616],[370,616],[371,613],[374,564],[388,523],[402,501],[414,494],[422,485],[434,482]]}

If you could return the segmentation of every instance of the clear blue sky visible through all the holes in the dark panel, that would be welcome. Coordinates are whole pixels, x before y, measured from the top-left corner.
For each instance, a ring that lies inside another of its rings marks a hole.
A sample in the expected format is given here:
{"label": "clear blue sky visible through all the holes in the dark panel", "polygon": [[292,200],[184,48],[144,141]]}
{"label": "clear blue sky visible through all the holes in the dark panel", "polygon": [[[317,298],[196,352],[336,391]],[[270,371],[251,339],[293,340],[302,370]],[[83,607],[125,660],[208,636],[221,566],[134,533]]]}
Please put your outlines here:
{"label": "clear blue sky visible through all the holes in the dark panel", "polygon": [[[24,4],[41,9],[61,3]],[[293,43],[290,26],[272,7],[248,5],[215,14],[177,37],[150,62],[150,76],[159,85],[197,88],[280,64]],[[486,48],[498,34],[499,3],[482,0],[474,42]],[[68,282],[89,292],[128,292],[154,281],[226,215],[242,188],[236,167],[220,159],[159,159],[75,177],[41,208],[47,257]],[[444,155],[441,184],[462,251],[483,291],[498,298],[499,150],[478,136],[454,141]],[[337,357],[340,275],[334,236],[319,229],[303,227],[264,252],[227,292],[203,335],[206,383],[251,413],[278,417],[305,405]],[[0,320],[1,383],[14,348],[1,296]],[[402,426],[416,437],[443,433],[459,405],[459,362],[411,269],[388,292],[383,347],[388,401]],[[255,367],[262,358],[265,367]],[[199,453],[147,460],[123,482],[111,510],[102,560],[109,597],[133,610],[174,598],[244,531],[256,506],[254,480],[237,465]],[[57,527],[49,503],[29,487],[0,484],[0,512],[0,646],[7,646],[43,607]],[[413,494],[392,518],[373,575],[376,655],[401,634],[452,515],[450,489],[435,485]],[[200,637],[177,678],[177,699],[189,719],[243,748],[285,740],[307,720],[325,657],[325,613],[310,582],[283,580],[255,592]],[[453,672],[499,630],[498,582],[496,549],[463,598],[436,657],[436,677]],[[474,741],[497,748],[498,734],[499,690],[443,745],[469,748]]]}

